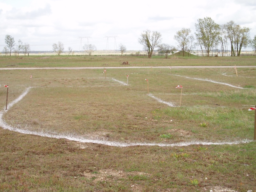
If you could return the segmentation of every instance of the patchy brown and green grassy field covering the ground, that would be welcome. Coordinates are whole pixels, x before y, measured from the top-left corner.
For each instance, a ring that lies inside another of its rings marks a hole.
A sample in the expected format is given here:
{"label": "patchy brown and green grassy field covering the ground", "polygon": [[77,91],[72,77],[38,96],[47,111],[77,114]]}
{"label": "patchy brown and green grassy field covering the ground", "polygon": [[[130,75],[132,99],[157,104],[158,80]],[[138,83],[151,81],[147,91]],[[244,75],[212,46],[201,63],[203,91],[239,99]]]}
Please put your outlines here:
{"label": "patchy brown and green grassy field covering the ground", "polygon": [[[238,67],[237,77],[233,67],[255,66],[254,57],[130,59],[0,58],[2,68],[102,67],[0,70],[3,109],[3,85],[9,102],[31,87],[3,111],[3,120],[29,131],[119,143],[253,139],[254,112],[243,105],[256,104],[256,68]],[[120,60],[230,68],[107,68],[105,78],[103,67],[121,67]],[[255,142],[113,147],[0,129],[0,191],[256,191],[255,149]]]}

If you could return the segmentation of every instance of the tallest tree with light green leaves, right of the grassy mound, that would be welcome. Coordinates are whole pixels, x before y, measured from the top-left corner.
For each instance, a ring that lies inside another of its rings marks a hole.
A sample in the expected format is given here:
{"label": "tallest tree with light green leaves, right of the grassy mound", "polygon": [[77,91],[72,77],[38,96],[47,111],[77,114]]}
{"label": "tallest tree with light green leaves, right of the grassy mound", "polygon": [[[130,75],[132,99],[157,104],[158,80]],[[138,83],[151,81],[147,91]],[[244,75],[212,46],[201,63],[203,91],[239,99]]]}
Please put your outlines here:
{"label": "tallest tree with light green leaves, right of the grassy mound", "polygon": [[196,38],[197,41],[202,43],[209,57],[209,53],[216,43],[216,39],[220,34],[220,26],[216,24],[210,17],[204,19],[198,19],[196,27]]}

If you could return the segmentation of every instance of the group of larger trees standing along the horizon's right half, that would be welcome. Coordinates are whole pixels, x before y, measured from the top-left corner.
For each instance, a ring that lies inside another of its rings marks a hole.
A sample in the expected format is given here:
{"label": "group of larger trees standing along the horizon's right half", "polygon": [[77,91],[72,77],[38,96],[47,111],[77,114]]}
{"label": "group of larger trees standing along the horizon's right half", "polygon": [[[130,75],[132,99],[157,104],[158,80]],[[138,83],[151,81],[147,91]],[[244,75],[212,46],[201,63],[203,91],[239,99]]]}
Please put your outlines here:
{"label": "group of larger trees standing along the horizon's right half", "polygon": [[[198,23],[195,24],[196,39],[191,34],[190,28],[182,28],[174,35],[178,47],[183,51],[183,56],[185,56],[185,52],[190,53],[196,46],[199,46],[203,53],[205,51],[208,57],[211,51],[218,50],[220,46],[221,55],[225,56],[225,53],[228,53],[228,44],[230,45],[231,56],[240,56],[242,47],[245,48],[248,46],[253,49],[255,55],[256,35],[253,39],[250,38],[250,28],[242,28],[234,21],[219,25],[210,17],[198,19],[197,21]],[[158,48],[158,51],[164,51],[166,58],[168,56],[167,53],[175,49],[174,46],[161,44],[162,35],[157,31],[151,32],[150,30],[146,30],[143,31],[140,36],[138,42],[143,46],[144,50],[148,52],[148,58],[151,58],[155,48]],[[195,40],[197,40],[197,42],[195,42]]]}

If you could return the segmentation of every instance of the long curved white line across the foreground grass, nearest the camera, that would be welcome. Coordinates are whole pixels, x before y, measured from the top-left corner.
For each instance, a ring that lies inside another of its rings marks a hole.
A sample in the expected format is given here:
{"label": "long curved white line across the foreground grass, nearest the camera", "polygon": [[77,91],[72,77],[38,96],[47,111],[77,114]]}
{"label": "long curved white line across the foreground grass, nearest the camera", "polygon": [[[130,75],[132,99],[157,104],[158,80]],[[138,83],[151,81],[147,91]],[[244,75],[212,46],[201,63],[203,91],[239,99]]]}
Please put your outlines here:
{"label": "long curved white line across the foreground grass, nearest the camera", "polygon": [[[13,100],[7,107],[12,107],[15,103],[20,101],[23,97],[26,96],[26,94],[29,92],[31,87],[27,88],[24,93],[22,93],[17,99]],[[108,146],[116,146],[116,147],[129,147],[129,146],[160,146],[160,147],[180,147],[180,146],[189,146],[189,145],[233,145],[233,144],[240,144],[240,143],[248,143],[252,142],[252,140],[244,140],[244,141],[233,141],[233,142],[211,142],[211,141],[189,141],[189,142],[180,142],[180,143],[172,143],[172,144],[164,144],[164,143],[120,143],[115,141],[106,141],[106,140],[90,140],[85,139],[84,137],[74,137],[72,134],[70,135],[64,135],[64,134],[50,134],[47,132],[36,132],[36,131],[29,131],[25,129],[18,129],[13,128],[6,124],[3,120],[3,114],[7,110],[0,111],[0,126],[4,129],[8,129],[10,131],[15,131],[19,133],[24,134],[30,134],[30,135],[38,135],[42,137],[49,137],[49,138],[56,138],[56,139],[67,139],[72,141],[78,141],[82,143],[97,143],[102,145],[108,145]]]}

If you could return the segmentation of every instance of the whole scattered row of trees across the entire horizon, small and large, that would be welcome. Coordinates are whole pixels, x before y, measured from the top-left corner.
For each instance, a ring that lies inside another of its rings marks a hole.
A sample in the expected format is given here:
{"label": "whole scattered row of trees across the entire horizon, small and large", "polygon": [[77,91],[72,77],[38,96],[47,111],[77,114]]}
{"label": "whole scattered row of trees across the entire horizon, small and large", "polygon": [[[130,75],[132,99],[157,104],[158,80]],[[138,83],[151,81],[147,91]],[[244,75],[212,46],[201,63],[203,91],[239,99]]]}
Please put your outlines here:
{"label": "whole scattered row of trees across the entire horizon, small and large", "polygon": [[[204,19],[198,19],[198,23],[195,23],[195,37],[191,34],[190,28],[182,28],[177,31],[174,35],[174,39],[178,43],[178,48],[183,51],[183,57],[185,52],[191,53],[196,46],[200,47],[202,53],[209,57],[210,52],[213,50],[218,50],[218,47],[221,49],[221,55],[225,56],[228,53],[228,45],[230,45],[231,56],[240,56],[242,47],[251,47],[256,53],[256,35],[253,39],[250,38],[250,28],[241,27],[237,25],[234,21],[229,21],[226,24],[219,25],[214,22],[210,17],[205,17]],[[162,44],[162,35],[157,31],[146,30],[143,31],[138,39],[138,43],[143,46],[143,49],[148,52],[148,58],[152,57],[153,51],[157,49],[159,52],[165,54],[165,58],[168,57],[168,54],[177,50],[175,46],[169,44]],[[29,54],[30,45],[28,43],[18,41],[18,44],[15,47],[14,38],[10,35],[5,36],[6,46],[3,49],[5,55],[13,51],[15,55],[22,52],[24,56]],[[92,52],[96,51],[97,48],[94,44],[85,44],[83,46],[84,52],[89,56],[92,55]],[[64,44],[60,41],[56,44],[52,44],[52,50],[56,55],[60,55],[64,50]],[[119,51],[121,55],[126,51],[126,47],[123,44],[119,44]],[[68,55],[73,52],[71,47],[68,47]],[[218,52],[217,52],[218,54]],[[204,55],[203,55],[204,56]],[[218,55],[217,55],[218,56]]]}

